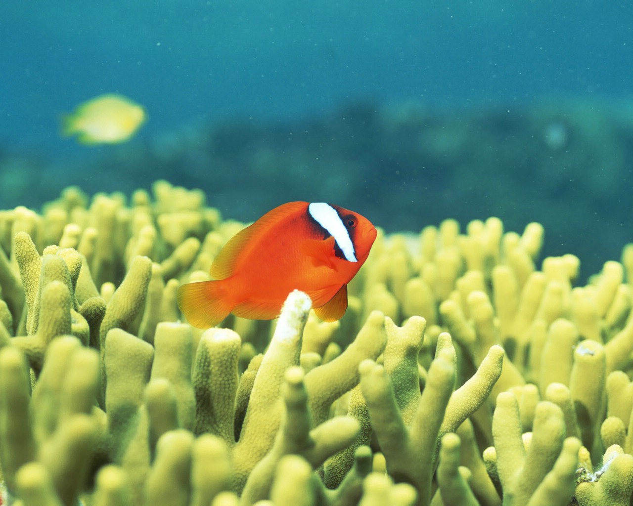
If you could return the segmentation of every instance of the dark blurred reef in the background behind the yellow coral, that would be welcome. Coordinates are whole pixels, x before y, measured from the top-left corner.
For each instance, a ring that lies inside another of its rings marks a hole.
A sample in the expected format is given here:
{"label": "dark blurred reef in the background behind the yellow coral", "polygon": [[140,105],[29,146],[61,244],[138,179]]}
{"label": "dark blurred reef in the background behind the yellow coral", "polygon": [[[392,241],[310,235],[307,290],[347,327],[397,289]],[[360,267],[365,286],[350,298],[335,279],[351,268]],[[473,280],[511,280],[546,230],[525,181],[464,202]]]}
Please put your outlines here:
{"label": "dark blurred reef in the background behind the yellow coral", "polygon": [[80,162],[0,147],[0,208],[39,209],[69,182],[129,195],[163,178],[201,188],[242,221],[292,200],[339,204],[387,231],[498,216],[506,230],[542,223],[544,255],[579,256],[587,278],[633,239],[632,167],[627,103],[448,111],[358,102],[311,119],[183,128]]}

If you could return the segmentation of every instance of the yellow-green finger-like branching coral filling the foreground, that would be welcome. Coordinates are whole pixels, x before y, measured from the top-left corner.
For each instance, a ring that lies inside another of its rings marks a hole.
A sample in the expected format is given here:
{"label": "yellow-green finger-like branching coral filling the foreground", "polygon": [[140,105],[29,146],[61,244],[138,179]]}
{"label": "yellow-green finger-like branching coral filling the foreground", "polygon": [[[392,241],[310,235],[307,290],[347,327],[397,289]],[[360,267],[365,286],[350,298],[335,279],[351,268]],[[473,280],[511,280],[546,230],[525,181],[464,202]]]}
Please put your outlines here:
{"label": "yellow-green finger-like branching coral filling the foreground", "polygon": [[9,503],[629,505],[633,245],[574,286],[543,229],[379,233],[339,322],[181,321],[240,223],[201,192],[0,212]]}

